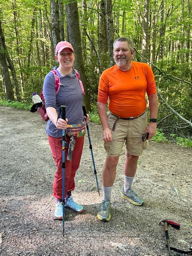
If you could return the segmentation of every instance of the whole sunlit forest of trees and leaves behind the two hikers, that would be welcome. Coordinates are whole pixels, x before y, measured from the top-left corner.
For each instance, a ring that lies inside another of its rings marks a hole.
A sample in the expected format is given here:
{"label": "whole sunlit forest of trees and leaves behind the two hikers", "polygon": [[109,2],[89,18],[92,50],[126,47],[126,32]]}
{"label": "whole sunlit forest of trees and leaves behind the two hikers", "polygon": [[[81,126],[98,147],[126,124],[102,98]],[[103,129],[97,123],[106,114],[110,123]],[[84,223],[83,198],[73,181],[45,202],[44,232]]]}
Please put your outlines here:
{"label": "whole sunlit forest of trees and leaves behind the two hikers", "polygon": [[113,41],[126,36],[134,60],[154,71],[158,132],[191,145],[191,21],[190,0],[1,0],[0,104],[15,101],[30,109],[32,93],[40,94],[57,65],[55,45],[66,40],[94,118],[99,77],[114,64]]}

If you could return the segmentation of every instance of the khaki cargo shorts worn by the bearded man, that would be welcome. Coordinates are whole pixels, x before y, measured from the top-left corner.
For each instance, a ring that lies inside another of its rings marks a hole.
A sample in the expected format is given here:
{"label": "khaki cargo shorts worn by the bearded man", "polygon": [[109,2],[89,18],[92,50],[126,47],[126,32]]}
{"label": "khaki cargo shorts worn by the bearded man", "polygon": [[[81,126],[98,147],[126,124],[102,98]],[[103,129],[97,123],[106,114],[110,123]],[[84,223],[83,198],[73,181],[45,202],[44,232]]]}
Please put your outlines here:
{"label": "khaki cargo shorts worn by the bearded man", "polygon": [[[145,142],[142,141],[142,132],[147,127],[146,111],[140,117],[132,120],[117,119],[112,113],[109,113],[107,117],[113,139],[112,142],[104,143],[107,156],[121,155],[124,142],[127,153],[133,156],[141,156],[143,154],[143,149],[146,149],[148,146],[148,140]],[[116,120],[115,130],[112,131]]]}

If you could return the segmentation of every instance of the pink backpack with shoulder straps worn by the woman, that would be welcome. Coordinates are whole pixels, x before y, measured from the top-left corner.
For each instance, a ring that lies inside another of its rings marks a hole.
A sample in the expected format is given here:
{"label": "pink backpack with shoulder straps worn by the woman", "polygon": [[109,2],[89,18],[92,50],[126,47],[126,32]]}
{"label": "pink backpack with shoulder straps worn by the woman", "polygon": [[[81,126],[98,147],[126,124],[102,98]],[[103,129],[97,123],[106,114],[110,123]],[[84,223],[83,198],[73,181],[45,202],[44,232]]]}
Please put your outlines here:
{"label": "pink backpack with shoulder straps worn by the woman", "polygon": [[[79,80],[79,85],[81,87],[81,91],[82,91],[82,94],[85,95],[85,91],[84,91],[84,88],[83,88],[83,83],[82,81],[80,80],[80,76],[79,76],[79,73],[76,69],[75,70],[75,73],[77,75],[77,79]],[[51,72],[53,72],[54,74],[54,78],[55,78],[55,93],[56,95],[58,94],[58,91],[60,89],[60,77],[57,73],[57,71],[55,69],[51,70]],[[38,110],[39,114],[41,115],[41,118],[47,122],[49,120],[49,117],[47,115],[47,111],[46,111],[46,108],[45,108],[45,99],[44,99],[44,96],[43,96],[43,88],[41,90],[41,94],[40,94],[40,98],[42,100],[42,102],[38,102],[38,103],[35,103],[32,108],[31,108],[31,112],[36,112]]]}

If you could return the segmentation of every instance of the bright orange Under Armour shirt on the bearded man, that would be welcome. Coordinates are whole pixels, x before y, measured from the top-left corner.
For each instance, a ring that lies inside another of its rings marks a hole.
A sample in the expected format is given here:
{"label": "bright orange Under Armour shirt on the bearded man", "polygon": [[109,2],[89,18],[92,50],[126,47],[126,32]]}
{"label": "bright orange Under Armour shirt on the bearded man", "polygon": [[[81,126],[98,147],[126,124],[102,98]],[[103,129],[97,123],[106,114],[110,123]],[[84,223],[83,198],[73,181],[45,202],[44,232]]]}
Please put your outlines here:
{"label": "bright orange Under Armour shirt on the bearded man", "polygon": [[107,103],[109,110],[119,117],[137,117],[146,107],[145,92],[156,93],[156,83],[151,67],[142,62],[132,62],[128,71],[117,65],[103,71],[98,87],[98,102]]}

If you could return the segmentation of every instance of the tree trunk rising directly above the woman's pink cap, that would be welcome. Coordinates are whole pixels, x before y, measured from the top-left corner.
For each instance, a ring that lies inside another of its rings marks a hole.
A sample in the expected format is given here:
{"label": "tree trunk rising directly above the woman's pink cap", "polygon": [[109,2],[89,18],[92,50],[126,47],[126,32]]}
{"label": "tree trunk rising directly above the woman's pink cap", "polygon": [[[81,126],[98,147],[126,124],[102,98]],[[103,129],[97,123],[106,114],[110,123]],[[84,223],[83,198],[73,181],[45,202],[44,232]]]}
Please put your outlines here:
{"label": "tree trunk rising directly above the woman's pink cap", "polygon": [[60,17],[59,17],[59,0],[51,0],[51,32],[53,39],[53,48],[61,41],[60,40]]}

